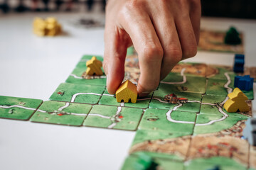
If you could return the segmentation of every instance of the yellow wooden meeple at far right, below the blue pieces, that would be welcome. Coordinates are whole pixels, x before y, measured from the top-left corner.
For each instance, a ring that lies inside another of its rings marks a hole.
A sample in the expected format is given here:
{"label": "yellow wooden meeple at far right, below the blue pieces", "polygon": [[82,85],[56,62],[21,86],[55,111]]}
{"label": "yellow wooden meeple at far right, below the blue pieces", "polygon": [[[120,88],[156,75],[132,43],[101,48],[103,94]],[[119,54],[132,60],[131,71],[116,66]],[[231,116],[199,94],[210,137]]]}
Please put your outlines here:
{"label": "yellow wooden meeple at far right, below the blue pieces", "polygon": [[225,102],[224,108],[226,111],[230,112],[247,112],[250,110],[249,106],[245,101],[248,100],[247,96],[242,93],[239,88],[235,88],[234,91],[228,94],[228,101]]}

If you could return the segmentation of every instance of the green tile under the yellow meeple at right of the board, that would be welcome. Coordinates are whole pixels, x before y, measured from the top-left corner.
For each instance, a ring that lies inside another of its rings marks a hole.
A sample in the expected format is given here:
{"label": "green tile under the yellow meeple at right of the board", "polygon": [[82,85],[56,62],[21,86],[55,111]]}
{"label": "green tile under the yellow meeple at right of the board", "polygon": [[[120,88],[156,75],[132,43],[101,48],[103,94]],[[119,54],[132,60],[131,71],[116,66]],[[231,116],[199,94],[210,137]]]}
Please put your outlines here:
{"label": "green tile under the yellow meeple at right of the board", "polygon": [[[220,113],[220,111],[218,111],[218,106],[220,106],[219,104],[222,103],[224,100],[225,100],[225,96],[212,96],[212,95],[203,96],[200,114],[223,115],[223,113]],[[221,110],[224,113],[227,113],[228,116],[230,117],[233,117],[233,116],[245,117],[240,113],[228,113],[227,111],[225,111],[225,108],[222,108]]]}

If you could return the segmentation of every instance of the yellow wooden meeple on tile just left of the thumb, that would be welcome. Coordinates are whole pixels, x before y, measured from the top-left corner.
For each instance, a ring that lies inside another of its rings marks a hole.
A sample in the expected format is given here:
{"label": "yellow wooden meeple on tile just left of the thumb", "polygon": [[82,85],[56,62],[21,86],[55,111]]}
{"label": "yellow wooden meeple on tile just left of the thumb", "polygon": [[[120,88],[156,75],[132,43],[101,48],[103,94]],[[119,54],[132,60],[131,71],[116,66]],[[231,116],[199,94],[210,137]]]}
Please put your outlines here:
{"label": "yellow wooden meeple on tile just left of the thumb", "polygon": [[86,74],[93,76],[101,76],[103,74],[102,72],[102,62],[100,60],[97,60],[97,58],[95,56],[92,57],[91,60],[86,62]]}

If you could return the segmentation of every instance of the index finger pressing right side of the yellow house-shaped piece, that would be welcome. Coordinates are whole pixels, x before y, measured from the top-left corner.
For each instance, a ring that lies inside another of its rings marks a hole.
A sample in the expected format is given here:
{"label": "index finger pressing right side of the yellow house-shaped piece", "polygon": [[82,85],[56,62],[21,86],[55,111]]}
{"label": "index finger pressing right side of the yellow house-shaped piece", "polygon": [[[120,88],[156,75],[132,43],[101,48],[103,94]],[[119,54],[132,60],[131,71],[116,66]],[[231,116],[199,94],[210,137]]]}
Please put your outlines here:
{"label": "index finger pressing right side of the yellow house-shaped piece", "polygon": [[[139,55],[141,74],[137,91],[139,96],[146,96],[159,84],[163,50],[148,13],[141,11],[142,4],[136,4],[137,2],[134,1],[135,4],[127,6],[122,19],[124,22],[121,22],[121,25],[129,34]],[[127,16],[126,13],[132,15]]]}

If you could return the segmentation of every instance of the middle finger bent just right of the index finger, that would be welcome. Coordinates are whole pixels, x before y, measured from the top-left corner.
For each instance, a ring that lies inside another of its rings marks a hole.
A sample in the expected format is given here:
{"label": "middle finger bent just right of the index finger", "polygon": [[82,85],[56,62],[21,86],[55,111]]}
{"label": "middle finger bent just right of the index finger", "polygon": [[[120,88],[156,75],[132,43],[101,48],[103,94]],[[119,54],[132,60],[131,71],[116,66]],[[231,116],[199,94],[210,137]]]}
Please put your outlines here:
{"label": "middle finger bent just right of the index finger", "polygon": [[[151,20],[164,50],[164,57],[161,63],[161,79],[164,79],[171,69],[181,60],[181,42],[175,26],[174,16],[171,13],[170,4],[158,1],[158,6],[150,8]],[[153,6],[152,6],[153,7]],[[153,11],[161,10],[161,13]]]}

